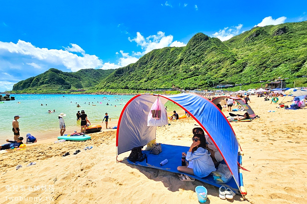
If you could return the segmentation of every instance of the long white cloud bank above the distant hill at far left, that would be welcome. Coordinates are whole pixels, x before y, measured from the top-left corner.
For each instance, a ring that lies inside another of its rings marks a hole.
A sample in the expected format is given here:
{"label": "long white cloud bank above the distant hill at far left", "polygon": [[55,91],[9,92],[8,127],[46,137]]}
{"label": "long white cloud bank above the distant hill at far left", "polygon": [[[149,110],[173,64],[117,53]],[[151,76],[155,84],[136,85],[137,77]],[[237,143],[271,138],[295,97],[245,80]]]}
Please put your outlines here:
{"label": "long white cloud bank above the distant hill at far left", "polygon": [[[72,47],[66,47],[65,50],[49,50],[48,48],[35,47],[31,43],[22,40],[18,40],[16,44],[0,41],[0,50],[8,51],[12,54],[29,56],[41,62],[47,62],[53,65],[63,65],[73,72],[80,69],[102,67],[103,61],[96,55],[85,54],[84,50],[76,44],[71,44],[71,46]],[[78,56],[71,52],[81,53],[82,56]]]}

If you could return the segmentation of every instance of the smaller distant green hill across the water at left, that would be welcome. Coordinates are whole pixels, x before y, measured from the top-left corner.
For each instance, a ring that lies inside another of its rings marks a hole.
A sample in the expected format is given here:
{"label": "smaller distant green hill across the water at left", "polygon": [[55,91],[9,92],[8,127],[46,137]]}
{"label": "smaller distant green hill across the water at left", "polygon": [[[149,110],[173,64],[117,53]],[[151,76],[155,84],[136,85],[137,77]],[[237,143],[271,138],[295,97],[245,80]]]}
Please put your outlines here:
{"label": "smaller distant green hill across the water at left", "polygon": [[24,93],[65,93],[64,90],[89,89],[109,76],[115,69],[81,69],[77,72],[62,72],[51,68],[48,71],[22,80],[13,86],[13,91]]}

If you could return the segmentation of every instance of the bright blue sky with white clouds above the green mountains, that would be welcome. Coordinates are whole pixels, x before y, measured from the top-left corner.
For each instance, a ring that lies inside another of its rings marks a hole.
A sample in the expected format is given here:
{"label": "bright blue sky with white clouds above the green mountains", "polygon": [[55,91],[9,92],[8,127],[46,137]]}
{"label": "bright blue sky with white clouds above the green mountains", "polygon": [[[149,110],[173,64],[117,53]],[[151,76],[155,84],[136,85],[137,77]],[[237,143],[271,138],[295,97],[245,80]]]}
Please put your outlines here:
{"label": "bright blue sky with white clouds above the green mountains", "polygon": [[0,91],[50,68],[119,68],[197,32],[223,41],[306,12],[307,1],[1,1]]}

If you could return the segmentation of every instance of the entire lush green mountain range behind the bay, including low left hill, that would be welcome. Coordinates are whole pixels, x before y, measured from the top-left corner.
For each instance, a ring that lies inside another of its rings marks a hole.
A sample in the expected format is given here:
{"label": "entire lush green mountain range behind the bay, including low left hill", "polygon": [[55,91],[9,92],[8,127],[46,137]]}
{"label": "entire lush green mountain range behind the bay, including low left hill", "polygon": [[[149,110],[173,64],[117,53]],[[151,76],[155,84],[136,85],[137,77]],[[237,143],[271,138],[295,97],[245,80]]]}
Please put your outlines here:
{"label": "entire lush green mountain range behind the bay, including low left hill", "polygon": [[[103,77],[90,76],[84,80],[86,84],[81,80],[84,77],[77,78],[83,70],[55,73],[52,69],[15,84],[13,90],[26,92],[45,84],[61,89],[86,87],[88,93],[131,93],[170,87],[205,89],[240,83],[251,83],[247,85],[251,88],[264,85],[260,81],[278,77],[289,78],[287,87],[293,86],[294,80],[296,86],[307,86],[307,77],[297,78],[307,75],[306,61],[307,21],[303,21],[255,27],[224,42],[197,33],[184,47],[152,50],[134,64],[115,71],[100,70]],[[51,78],[49,72],[57,78]],[[236,88],[239,87],[233,89]]]}

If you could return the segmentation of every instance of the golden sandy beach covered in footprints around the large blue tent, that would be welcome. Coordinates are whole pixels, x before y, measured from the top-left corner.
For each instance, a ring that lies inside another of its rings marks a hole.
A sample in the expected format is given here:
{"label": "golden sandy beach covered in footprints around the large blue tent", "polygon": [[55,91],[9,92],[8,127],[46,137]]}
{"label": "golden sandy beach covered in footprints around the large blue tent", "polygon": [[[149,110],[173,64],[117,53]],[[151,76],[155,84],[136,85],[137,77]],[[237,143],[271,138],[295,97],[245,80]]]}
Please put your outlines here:
{"label": "golden sandy beach covered in footprints around the large blue tent", "polygon": [[[199,185],[208,190],[206,203],[306,203],[307,110],[277,109],[263,97],[250,98],[260,118],[231,123],[244,152],[243,167],[251,171],[243,171],[244,201],[240,195],[222,200],[217,187],[197,180],[182,182],[172,172],[117,163],[116,131],[108,130],[91,134],[92,140],[85,142],[54,144],[56,139],[45,139],[0,154],[0,203],[33,199],[31,203],[188,204],[198,203],[195,187]],[[169,123],[157,128],[157,142],[190,146],[197,124],[192,117]],[[87,146],[93,148],[83,150]],[[72,155],[78,149],[81,152]],[[65,152],[71,155],[61,157]],[[36,165],[27,167],[30,161]],[[16,170],[18,164],[23,167]]]}

